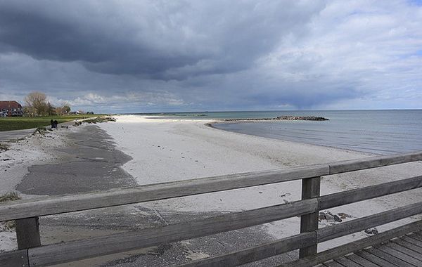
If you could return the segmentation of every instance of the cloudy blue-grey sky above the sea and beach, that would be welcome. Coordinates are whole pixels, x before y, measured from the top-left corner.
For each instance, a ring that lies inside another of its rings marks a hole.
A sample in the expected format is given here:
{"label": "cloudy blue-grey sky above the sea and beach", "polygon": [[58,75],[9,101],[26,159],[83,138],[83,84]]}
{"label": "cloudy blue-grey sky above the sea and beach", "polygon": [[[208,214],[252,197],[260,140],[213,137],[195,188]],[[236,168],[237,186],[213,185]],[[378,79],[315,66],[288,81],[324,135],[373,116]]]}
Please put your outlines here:
{"label": "cloudy blue-grey sky above the sea and beach", "polygon": [[94,112],[422,108],[422,1],[0,0],[0,100]]}

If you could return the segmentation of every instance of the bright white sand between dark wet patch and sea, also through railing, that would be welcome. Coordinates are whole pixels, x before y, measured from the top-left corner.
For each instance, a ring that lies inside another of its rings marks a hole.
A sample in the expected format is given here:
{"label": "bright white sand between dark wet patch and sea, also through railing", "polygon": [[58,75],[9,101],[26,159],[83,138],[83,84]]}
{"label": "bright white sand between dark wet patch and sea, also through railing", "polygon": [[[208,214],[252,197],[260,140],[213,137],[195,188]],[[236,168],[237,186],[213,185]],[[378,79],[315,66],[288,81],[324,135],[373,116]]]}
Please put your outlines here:
{"label": "bright white sand between dark wet patch and sea, also through railing", "polygon": [[[124,169],[132,174],[140,185],[246,171],[298,167],[369,156],[361,152],[212,129],[204,125],[207,122],[209,121],[147,119],[141,116],[124,115],[118,116],[117,122],[98,125],[115,138],[118,149],[132,156],[133,159],[124,164]],[[421,172],[421,162],[415,162],[328,176],[321,184],[321,194],[409,178],[420,175]],[[300,181],[294,181],[181,197],[146,205],[159,210],[241,211],[299,199]],[[414,190],[411,193],[350,204],[330,211],[333,214],[345,212],[352,218],[357,218],[421,199],[421,190]],[[409,220],[411,219],[407,219]],[[393,225],[399,223],[393,223]],[[326,224],[328,224],[326,221],[321,221],[320,227]],[[292,218],[267,223],[266,226],[274,237],[284,237],[298,233],[299,219]],[[388,227],[381,226],[378,230],[382,231]],[[340,242],[349,242],[365,235],[357,233],[347,238],[343,237]],[[331,243],[339,244],[339,240]],[[324,249],[329,246],[331,246],[330,242],[326,242],[319,247]]]}

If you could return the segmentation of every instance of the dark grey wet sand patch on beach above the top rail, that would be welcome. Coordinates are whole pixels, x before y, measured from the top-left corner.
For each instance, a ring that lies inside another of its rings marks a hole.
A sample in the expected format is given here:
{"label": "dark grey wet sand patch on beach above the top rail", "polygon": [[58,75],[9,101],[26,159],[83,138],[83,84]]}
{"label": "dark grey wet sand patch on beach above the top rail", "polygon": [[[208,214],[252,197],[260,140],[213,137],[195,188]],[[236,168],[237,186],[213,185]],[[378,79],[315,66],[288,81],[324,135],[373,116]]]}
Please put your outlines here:
{"label": "dark grey wet sand patch on beach above the top rail", "polygon": [[70,133],[71,145],[56,150],[53,164],[34,165],[16,187],[27,195],[63,195],[136,185],[121,166],[131,157],[115,149],[112,138],[98,126]]}

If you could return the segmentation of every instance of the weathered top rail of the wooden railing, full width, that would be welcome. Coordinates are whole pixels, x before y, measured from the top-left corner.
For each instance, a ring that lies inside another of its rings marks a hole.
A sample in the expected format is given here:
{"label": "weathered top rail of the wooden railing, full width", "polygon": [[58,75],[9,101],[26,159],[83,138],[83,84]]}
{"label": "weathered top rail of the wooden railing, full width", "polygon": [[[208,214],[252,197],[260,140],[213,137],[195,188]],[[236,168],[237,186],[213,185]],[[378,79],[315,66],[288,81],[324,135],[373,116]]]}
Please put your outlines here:
{"label": "weathered top rail of the wooden railing, full width", "polygon": [[196,178],[94,193],[41,197],[37,200],[18,200],[0,204],[0,221],[165,200],[173,197],[184,197],[270,183],[301,180],[302,178],[339,174],[347,171],[384,167],[418,160],[422,160],[422,152],[367,157],[364,159],[353,159],[293,169],[254,171],[244,174]]}

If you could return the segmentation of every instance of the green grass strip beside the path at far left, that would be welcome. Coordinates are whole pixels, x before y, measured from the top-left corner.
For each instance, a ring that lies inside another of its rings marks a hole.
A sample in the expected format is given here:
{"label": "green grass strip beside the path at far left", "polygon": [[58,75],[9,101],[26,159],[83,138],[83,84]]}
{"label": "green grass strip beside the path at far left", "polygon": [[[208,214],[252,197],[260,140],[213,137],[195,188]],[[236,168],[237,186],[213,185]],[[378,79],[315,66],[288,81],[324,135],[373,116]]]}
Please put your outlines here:
{"label": "green grass strip beside the path at far left", "polygon": [[13,131],[21,129],[33,129],[41,126],[50,125],[51,119],[58,123],[70,122],[74,119],[86,119],[98,115],[65,115],[65,116],[46,116],[46,117],[6,117],[0,118],[0,131]]}

